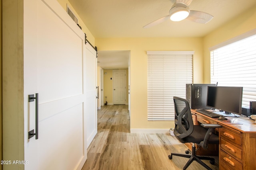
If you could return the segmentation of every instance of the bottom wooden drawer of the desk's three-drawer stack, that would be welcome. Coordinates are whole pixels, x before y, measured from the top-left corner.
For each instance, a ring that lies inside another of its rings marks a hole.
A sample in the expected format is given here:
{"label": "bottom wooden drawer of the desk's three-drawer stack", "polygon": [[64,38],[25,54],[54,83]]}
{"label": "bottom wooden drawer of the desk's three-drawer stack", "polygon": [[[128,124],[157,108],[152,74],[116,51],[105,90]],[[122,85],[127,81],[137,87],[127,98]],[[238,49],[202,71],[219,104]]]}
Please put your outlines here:
{"label": "bottom wooden drawer of the desk's three-drawer stack", "polygon": [[222,169],[242,170],[243,165],[230,154],[220,150],[220,167]]}

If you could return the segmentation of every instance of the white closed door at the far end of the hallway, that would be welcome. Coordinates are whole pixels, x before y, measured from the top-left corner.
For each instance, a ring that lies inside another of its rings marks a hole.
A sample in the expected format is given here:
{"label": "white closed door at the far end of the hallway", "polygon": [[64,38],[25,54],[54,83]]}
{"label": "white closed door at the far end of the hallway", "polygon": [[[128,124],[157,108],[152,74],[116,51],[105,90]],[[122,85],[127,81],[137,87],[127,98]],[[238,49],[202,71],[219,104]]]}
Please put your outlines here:
{"label": "white closed door at the far end of the hallway", "polygon": [[114,104],[126,104],[126,70],[114,70]]}

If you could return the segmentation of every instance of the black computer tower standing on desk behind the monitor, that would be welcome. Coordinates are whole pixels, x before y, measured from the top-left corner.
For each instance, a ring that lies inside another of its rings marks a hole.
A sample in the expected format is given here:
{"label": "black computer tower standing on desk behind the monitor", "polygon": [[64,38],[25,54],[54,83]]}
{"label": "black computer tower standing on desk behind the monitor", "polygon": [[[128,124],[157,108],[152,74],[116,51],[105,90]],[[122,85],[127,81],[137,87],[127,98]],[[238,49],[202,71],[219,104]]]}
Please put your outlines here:
{"label": "black computer tower standing on desk behind the monitor", "polygon": [[211,109],[206,106],[208,86],[215,84],[186,84],[186,100],[191,109]]}

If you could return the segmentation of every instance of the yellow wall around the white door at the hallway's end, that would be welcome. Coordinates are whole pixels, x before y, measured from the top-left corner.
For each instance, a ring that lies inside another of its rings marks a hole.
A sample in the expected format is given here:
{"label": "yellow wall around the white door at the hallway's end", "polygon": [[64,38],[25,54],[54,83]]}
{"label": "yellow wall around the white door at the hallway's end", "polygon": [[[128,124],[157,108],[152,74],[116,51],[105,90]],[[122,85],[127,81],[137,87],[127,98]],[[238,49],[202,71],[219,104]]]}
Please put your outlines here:
{"label": "yellow wall around the white door at the hallway's end", "polygon": [[[128,68],[119,70],[126,70],[126,104],[128,104]],[[104,74],[104,103],[107,96],[108,104],[113,104],[113,70],[103,70],[103,72],[107,73]]]}

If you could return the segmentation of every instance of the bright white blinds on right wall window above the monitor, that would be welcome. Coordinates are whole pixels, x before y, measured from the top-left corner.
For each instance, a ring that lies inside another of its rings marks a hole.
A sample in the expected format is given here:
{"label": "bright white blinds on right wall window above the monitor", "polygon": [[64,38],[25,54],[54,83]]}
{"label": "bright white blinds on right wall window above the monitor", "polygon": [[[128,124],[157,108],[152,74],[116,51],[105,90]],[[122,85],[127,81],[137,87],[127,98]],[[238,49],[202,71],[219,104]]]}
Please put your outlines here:
{"label": "bright white blinds on right wall window above the monitor", "polygon": [[256,101],[256,35],[211,51],[211,83],[242,86],[242,105]]}

